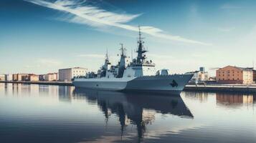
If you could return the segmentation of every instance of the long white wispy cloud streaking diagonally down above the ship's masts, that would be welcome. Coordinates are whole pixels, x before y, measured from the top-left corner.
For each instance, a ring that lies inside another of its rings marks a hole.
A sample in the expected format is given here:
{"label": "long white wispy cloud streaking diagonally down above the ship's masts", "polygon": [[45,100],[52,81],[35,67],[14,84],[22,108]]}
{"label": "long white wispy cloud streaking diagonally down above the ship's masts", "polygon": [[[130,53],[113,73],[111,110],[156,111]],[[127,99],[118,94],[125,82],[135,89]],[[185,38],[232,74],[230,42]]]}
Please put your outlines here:
{"label": "long white wispy cloud streaking diagonally down above the ship's masts", "polygon": [[[50,9],[56,9],[59,11],[64,11],[67,14],[72,14],[67,20],[79,24],[87,24],[90,26],[114,26],[120,29],[126,29],[130,31],[138,31],[137,26],[132,26],[127,24],[128,21],[135,19],[141,14],[117,14],[111,11],[106,11],[100,9],[96,6],[91,6],[86,4],[85,1],[70,1],[70,0],[57,0],[57,1],[44,1],[44,0],[24,0],[37,4],[39,6],[45,6]],[[173,36],[171,34],[166,34],[153,26],[141,26],[141,31],[145,34],[155,36],[161,39],[168,39],[173,41],[180,41],[190,44],[202,44],[211,45],[204,43],[202,41],[195,41],[192,39],[186,39],[181,36]]]}

